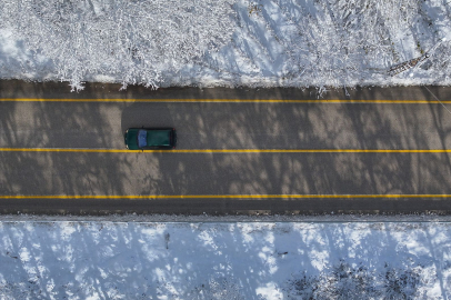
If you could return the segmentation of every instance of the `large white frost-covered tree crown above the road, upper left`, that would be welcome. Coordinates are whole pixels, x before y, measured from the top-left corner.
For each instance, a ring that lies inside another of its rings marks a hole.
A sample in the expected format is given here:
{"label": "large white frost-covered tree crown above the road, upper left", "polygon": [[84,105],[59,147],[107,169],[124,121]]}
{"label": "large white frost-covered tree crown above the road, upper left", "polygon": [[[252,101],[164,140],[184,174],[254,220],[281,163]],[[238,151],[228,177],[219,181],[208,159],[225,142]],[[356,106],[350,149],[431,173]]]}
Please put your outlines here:
{"label": "large white frost-covered tree crown above the road, upper left", "polygon": [[93,74],[157,88],[161,72],[216,51],[233,32],[227,0],[13,0],[1,26],[57,66],[72,89]]}

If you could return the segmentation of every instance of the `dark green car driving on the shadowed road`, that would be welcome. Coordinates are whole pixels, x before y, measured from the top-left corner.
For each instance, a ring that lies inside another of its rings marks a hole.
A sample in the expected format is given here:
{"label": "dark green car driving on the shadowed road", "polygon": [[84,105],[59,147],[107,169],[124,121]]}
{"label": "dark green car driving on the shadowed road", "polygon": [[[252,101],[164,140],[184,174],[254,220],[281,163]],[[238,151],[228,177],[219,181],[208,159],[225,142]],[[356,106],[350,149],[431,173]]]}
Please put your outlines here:
{"label": "dark green car driving on the shadowed road", "polygon": [[174,128],[129,128],[124,138],[130,150],[173,149],[177,144]]}

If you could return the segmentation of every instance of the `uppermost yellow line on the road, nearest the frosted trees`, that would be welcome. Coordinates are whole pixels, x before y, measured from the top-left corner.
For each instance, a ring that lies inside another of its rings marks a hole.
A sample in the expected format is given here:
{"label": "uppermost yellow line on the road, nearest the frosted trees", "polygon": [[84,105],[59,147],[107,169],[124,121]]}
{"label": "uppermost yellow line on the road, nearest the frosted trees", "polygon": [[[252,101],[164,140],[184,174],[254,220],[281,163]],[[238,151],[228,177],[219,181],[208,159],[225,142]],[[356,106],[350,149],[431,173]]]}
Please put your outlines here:
{"label": "uppermost yellow line on the road, nearest the frosted trees", "polygon": [[0,98],[0,102],[252,102],[252,103],[381,103],[381,104],[441,104],[451,100],[340,100],[340,99],[48,99],[48,98]]}

